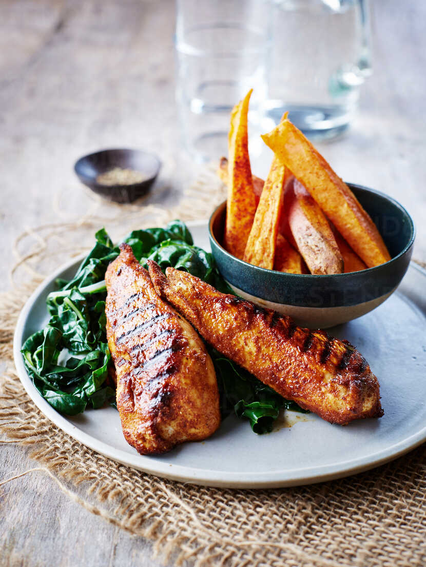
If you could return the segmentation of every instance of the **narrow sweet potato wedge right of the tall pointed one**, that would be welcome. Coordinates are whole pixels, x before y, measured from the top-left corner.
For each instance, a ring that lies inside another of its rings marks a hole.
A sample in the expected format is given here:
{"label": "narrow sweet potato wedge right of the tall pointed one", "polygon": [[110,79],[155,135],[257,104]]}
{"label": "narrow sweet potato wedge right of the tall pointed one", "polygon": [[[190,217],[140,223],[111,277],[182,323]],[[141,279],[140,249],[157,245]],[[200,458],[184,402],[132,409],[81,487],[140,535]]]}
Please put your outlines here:
{"label": "narrow sweet potato wedge right of the tall pointed one", "polygon": [[245,246],[243,260],[267,270],[272,270],[274,266],[275,241],[281,216],[285,178],[286,167],[279,159],[274,158]]}

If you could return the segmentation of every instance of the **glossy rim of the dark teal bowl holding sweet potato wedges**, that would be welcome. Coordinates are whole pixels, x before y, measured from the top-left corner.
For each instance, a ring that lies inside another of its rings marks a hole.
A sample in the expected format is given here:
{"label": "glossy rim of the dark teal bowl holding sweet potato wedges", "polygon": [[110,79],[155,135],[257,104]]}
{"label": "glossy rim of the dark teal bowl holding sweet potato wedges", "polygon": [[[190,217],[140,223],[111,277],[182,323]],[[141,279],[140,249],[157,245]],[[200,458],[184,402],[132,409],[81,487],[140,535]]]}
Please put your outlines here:
{"label": "glossy rim of the dark teal bowl holding sweet potato wedges", "polygon": [[385,198],[387,201],[390,201],[393,205],[395,205],[396,208],[402,210],[403,213],[406,214],[408,221],[410,222],[410,239],[408,240],[408,243],[406,244],[406,246],[404,246],[402,251],[399,252],[396,256],[394,256],[390,260],[388,260],[387,262],[384,262],[383,264],[379,264],[377,266],[373,266],[372,268],[366,268],[364,270],[358,270],[357,272],[348,272],[348,273],[341,273],[341,274],[293,274],[293,273],[290,273],[290,272],[277,272],[277,270],[269,270],[267,268],[261,268],[260,266],[255,266],[254,264],[249,264],[248,262],[245,262],[244,260],[240,260],[236,256],[233,256],[230,252],[225,250],[225,248],[222,246],[222,244],[220,244],[220,242],[218,241],[218,239],[216,239],[216,236],[213,233],[213,230],[212,230],[213,221],[216,218],[219,209],[222,208],[224,205],[226,205],[227,200],[222,201],[222,203],[220,203],[218,206],[216,206],[215,210],[210,215],[210,219],[208,220],[208,235],[210,236],[210,238],[212,240],[214,240],[214,243],[216,244],[216,246],[218,246],[220,248],[220,250],[224,253],[224,255],[229,257],[230,259],[232,259],[232,261],[235,261],[237,264],[249,266],[253,270],[258,271],[260,273],[281,274],[281,276],[295,278],[295,279],[300,278],[300,277],[309,278],[311,281],[319,281],[319,280],[324,281],[325,279],[330,280],[331,278],[344,279],[344,278],[353,277],[354,274],[369,274],[369,273],[373,272],[374,270],[377,270],[378,268],[382,268],[383,266],[388,266],[388,265],[391,265],[392,263],[395,263],[396,260],[398,260],[404,254],[406,254],[408,252],[408,250],[410,250],[410,248],[413,246],[414,240],[416,238],[416,227],[415,227],[414,221],[413,221],[410,213],[408,213],[407,209],[403,205],[401,205],[399,201],[396,201],[396,199],[394,199],[393,197],[390,197],[389,195],[387,195],[386,193],[383,193],[382,191],[377,191],[376,189],[370,189],[369,187],[366,187],[365,185],[358,185],[356,183],[348,183],[347,181],[345,181],[345,183],[346,183],[346,185],[349,186],[349,188],[354,187],[356,189],[361,189],[361,191],[364,191],[366,193],[374,193],[374,194],[379,195],[380,197]]}

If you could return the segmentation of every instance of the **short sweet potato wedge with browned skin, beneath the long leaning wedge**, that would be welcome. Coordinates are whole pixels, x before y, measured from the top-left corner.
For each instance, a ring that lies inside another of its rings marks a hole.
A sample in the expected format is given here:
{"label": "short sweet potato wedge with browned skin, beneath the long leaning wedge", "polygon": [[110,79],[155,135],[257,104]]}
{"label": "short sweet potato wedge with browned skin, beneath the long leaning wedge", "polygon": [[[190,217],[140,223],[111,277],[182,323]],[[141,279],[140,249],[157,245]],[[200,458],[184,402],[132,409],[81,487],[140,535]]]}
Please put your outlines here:
{"label": "short sweet potato wedge with browned skin, beneath the long leaning wedge", "polygon": [[294,194],[288,193],[291,233],[312,274],[340,274],[343,257],[323,211],[297,179]]}

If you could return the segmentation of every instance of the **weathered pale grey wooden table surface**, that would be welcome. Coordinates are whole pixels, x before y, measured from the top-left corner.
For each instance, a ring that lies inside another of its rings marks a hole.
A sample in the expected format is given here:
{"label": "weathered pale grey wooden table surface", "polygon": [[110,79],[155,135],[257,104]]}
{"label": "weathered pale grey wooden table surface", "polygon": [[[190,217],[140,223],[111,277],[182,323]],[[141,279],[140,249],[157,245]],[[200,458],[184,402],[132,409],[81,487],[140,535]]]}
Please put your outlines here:
{"label": "weathered pale grey wooden table surface", "polygon": [[[406,206],[415,256],[426,260],[426,3],[375,0],[373,9],[374,75],[360,112],[343,138],[318,147],[341,177]],[[166,204],[194,170],[179,150],[172,0],[2,0],[0,14],[0,286],[8,289],[14,238],[87,208],[72,171],[78,156],[153,150]],[[35,466],[27,452],[0,444],[0,476]],[[0,518],[2,565],[160,565],[147,541],[71,502],[44,473],[0,489]]]}

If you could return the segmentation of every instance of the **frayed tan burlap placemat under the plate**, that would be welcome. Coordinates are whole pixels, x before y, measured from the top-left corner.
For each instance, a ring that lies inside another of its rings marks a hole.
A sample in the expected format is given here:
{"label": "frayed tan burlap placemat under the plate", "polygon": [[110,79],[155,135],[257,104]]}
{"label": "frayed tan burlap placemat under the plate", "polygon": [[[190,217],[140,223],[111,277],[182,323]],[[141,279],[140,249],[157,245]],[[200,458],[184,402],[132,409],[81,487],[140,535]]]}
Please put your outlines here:
{"label": "frayed tan burlap placemat under the plate", "polygon": [[[103,224],[108,229],[115,223],[124,234],[176,217],[206,218],[223,197],[220,185],[204,179],[172,210],[129,205],[115,209],[106,222],[99,204],[78,227],[44,226],[18,239],[14,273],[25,270],[30,281],[0,299],[0,357],[7,364],[0,429],[31,446],[40,463],[32,470],[51,475],[94,514],[151,539],[154,552],[176,565],[423,567],[426,445],[374,471],[329,483],[256,491],[203,488],[157,479],[98,455],[53,425],[23,390],[12,365],[12,335],[19,311],[41,280],[40,265],[65,261],[78,252],[76,238],[82,247],[89,245],[93,229]],[[83,487],[83,499],[73,484]]]}

